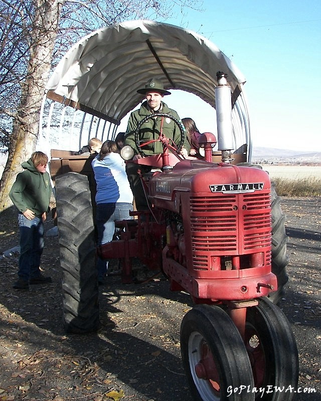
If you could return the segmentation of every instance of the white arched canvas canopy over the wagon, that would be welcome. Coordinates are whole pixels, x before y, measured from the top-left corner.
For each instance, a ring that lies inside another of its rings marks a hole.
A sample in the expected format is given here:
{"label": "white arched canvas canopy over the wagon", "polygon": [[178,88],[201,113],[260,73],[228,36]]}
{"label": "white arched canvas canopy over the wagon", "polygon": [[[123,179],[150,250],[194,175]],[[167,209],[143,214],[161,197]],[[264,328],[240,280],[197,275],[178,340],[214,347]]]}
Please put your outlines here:
{"label": "white arched canvas canopy over the wagon", "polygon": [[85,36],[61,59],[46,96],[117,126],[141,102],[136,91],[151,77],[165,89],[193,93],[215,108],[218,71],[228,75],[237,105],[233,129],[249,139],[244,76],[209,40],[169,24],[127,21]]}

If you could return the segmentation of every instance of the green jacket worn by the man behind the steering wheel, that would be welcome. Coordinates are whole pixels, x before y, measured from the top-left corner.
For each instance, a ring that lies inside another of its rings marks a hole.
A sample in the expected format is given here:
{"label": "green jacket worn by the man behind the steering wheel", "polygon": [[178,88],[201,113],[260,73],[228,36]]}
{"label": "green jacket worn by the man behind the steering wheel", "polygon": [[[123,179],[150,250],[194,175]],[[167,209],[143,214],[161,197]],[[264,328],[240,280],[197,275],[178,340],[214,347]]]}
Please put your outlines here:
{"label": "green jacket worn by the man behind the steering wheel", "polygon": [[[173,109],[170,109],[167,104],[163,103],[163,108],[162,108],[162,113],[165,114],[170,114],[177,120],[179,120],[184,127],[179,115],[177,112]],[[130,145],[133,149],[135,154],[138,153],[136,145],[135,145],[135,140],[134,140],[134,133],[137,128],[137,125],[139,121],[141,121],[143,118],[146,116],[149,116],[151,114],[150,109],[147,106],[147,102],[143,102],[138,110],[134,110],[128,119],[128,125],[127,125],[127,130],[125,133],[125,145]],[[139,143],[145,143],[148,142],[152,139],[157,139],[159,136],[159,133],[161,132],[161,122],[162,122],[162,117],[157,117],[156,119],[150,118],[148,121],[146,121],[139,130]],[[173,139],[174,142],[179,145],[181,141],[181,133],[180,129],[177,126],[177,124],[171,120],[171,119],[163,119],[163,134],[170,139]],[[184,135],[184,147],[185,149],[190,152],[191,146],[187,140],[186,134]],[[171,142],[170,142],[171,144]],[[141,150],[146,154],[158,154],[158,153],[163,153],[163,146],[160,141],[150,143],[147,146],[142,146]]]}

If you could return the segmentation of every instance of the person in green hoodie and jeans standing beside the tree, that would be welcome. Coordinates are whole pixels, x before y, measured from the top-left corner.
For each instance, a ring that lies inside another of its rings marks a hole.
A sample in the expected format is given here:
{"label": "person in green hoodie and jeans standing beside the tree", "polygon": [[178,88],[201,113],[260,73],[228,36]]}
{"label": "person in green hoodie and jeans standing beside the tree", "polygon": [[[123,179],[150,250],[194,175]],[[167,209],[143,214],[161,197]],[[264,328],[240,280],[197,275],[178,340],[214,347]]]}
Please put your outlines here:
{"label": "person in green hoodie and jeans standing beside the tree", "polygon": [[44,249],[44,221],[51,197],[50,177],[46,171],[48,157],[34,152],[22,163],[25,171],[17,175],[9,196],[19,211],[20,258],[18,281],[14,288],[28,290],[29,284],[51,283],[40,271],[40,258]]}

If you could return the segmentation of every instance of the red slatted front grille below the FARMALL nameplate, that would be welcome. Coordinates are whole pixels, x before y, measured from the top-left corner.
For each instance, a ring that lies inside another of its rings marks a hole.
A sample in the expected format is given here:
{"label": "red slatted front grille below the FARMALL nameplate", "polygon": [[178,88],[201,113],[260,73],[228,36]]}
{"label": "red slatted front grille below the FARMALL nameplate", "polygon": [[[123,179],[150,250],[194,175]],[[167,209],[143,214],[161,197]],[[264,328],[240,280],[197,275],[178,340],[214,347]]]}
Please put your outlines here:
{"label": "red slatted front grille below the FARMALL nameplate", "polygon": [[268,191],[191,197],[194,268],[207,270],[210,257],[250,254],[269,248],[270,202]]}

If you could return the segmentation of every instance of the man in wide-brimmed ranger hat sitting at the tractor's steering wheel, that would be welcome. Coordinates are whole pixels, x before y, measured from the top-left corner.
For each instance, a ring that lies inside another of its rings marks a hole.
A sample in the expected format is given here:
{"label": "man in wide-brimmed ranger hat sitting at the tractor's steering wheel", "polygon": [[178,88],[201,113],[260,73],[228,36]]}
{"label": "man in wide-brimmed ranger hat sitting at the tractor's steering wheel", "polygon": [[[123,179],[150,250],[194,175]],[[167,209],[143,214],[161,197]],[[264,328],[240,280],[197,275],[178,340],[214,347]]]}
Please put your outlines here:
{"label": "man in wide-brimmed ranger hat sitting at the tractor's steering wheel", "polygon": [[[145,87],[138,89],[137,92],[145,96],[145,101],[141,104],[139,109],[134,110],[130,114],[125,133],[125,145],[130,145],[133,148],[135,153],[133,157],[134,160],[141,157],[135,145],[134,133],[138,123],[146,116],[155,113],[170,114],[180,121],[184,127],[177,112],[173,109],[170,109],[168,105],[162,101],[163,97],[165,95],[170,95],[171,92],[164,89],[164,85],[160,80],[155,78],[150,79]],[[138,134],[139,142],[145,143],[150,140],[157,139],[161,130],[167,138],[173,139],[173,141],[179,145],[181,141],[179,127],[170,118],[163,119],[162,123],[162,117],[150,118],[144,124],[142,124]],[[190,149],[191,146],[187,140],[187,137],[185,136],[184,146],[181,154],[185,157],[188,156]],[[158,154],[163,153],[163,146],[160,141],[156,141],[144,146],[142,150],[146,155]],[[136,209],[139,211],[148,209],[148,206],[146,204],[146,198],[140,178],[137,175],[137,168],[137,165],[127,165],[128,180],[135,197]]]}

